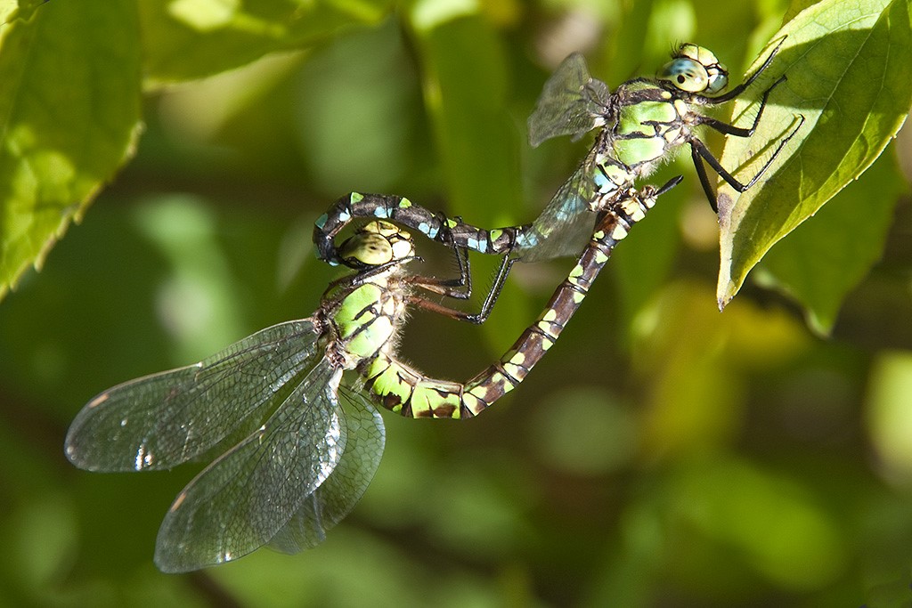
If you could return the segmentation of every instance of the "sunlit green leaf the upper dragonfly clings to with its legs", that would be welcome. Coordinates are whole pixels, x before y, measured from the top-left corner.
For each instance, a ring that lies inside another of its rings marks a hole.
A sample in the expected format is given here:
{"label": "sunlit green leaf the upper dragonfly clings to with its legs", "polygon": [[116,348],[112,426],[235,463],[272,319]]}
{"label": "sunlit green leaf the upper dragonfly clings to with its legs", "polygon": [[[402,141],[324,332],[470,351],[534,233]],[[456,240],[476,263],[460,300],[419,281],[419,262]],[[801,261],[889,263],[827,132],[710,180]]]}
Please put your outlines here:
{"label": "sunlit green leaf the upper dragonfly clings to with its legs", "polygon": [[[742,194],[720,187],[720,307],[774,242],[876,160],[912,105],[908,0],[824,0],[796,15],[776,39],[782,36],[772,66],[735,103],[738,124],[750,124],[776,78],[786,74],[788,81],[772,92],[753,137],[727,138],[722,166],[750,179],[799,114],[804,123],[755,187]],[[864,207],[859,211],[863,220]],[[843,230],[854,231],[854,223]]]}

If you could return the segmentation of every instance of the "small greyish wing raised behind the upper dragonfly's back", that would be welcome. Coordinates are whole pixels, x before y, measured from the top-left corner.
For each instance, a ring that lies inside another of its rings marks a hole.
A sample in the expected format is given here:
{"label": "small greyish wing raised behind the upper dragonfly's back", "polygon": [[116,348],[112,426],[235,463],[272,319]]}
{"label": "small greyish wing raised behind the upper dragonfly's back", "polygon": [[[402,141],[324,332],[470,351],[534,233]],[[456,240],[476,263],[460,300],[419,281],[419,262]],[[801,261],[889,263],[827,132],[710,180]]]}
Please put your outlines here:
{"label": "small greyish wing raised behind the upper dragonfly's back", "polygon": [[561,135],[580,139],[604,124],[610,97],[608,86],[589,76],[586,59],[574,53],[544,83],[529,117],[529,143],[535,147]]}

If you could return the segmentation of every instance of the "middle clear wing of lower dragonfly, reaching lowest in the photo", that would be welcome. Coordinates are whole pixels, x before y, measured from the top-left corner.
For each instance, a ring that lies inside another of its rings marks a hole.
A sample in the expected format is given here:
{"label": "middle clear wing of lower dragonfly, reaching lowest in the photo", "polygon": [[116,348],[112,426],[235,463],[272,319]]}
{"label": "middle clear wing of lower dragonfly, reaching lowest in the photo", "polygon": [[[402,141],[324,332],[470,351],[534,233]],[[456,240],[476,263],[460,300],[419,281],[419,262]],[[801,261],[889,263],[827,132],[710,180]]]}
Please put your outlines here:
{"label": "middle clear wing of lower dragonfly, reaching lowest in the photo", "polygon": [[161,523],[155,563],[189,572],[271,541],[336,469],[347,426],[341,368],[319,361],[253,435],[202,470]]}

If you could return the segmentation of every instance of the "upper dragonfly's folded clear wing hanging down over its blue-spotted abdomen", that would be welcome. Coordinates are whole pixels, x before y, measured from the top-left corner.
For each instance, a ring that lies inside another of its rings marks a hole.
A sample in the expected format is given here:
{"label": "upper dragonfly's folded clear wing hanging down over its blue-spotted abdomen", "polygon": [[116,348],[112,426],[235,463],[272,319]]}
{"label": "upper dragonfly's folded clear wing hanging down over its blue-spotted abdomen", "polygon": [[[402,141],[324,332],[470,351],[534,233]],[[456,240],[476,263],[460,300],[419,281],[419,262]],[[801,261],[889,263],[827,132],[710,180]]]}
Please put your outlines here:
{"label": "upper dragonfly's folded clear wing hanging down over its blue-spotted abdomen", "polygon": [[564,182],[532,228],[517,239],[515,256],[523,262],[578,255],[596,229],[597,214],[590,211],[595,197],[596,147]]}

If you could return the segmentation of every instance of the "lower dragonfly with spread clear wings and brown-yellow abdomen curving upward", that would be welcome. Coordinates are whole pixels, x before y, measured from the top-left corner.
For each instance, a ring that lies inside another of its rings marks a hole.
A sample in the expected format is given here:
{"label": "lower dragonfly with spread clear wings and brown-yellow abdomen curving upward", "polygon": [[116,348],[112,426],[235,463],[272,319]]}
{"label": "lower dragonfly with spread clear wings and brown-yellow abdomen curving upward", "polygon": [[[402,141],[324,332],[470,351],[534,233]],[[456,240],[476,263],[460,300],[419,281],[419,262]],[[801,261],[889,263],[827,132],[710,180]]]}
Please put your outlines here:
{"label": "lower dragonfly with spread clear wings and brown-yellow abdomen curving upward", "polygon": [[397,359],[408,306],[441,308],[416,290],[458,287],[407,273],[405,265],[418,259],[409,232],[374,221],[339,247],[356,272],[331,283],[313,315],[268,327],[192,366],[103,391],[73,420],[67,459],[90,471],[211,460],[161,523],[154,559],[163,572],[231,562],[263,546],[312,548],[354,508],[378,468],[385,430],[377,407],[407,417],[469,418],[518,386],[615,244],[679,180],[607,204],[544,313],[469,382],[429,378]]}

